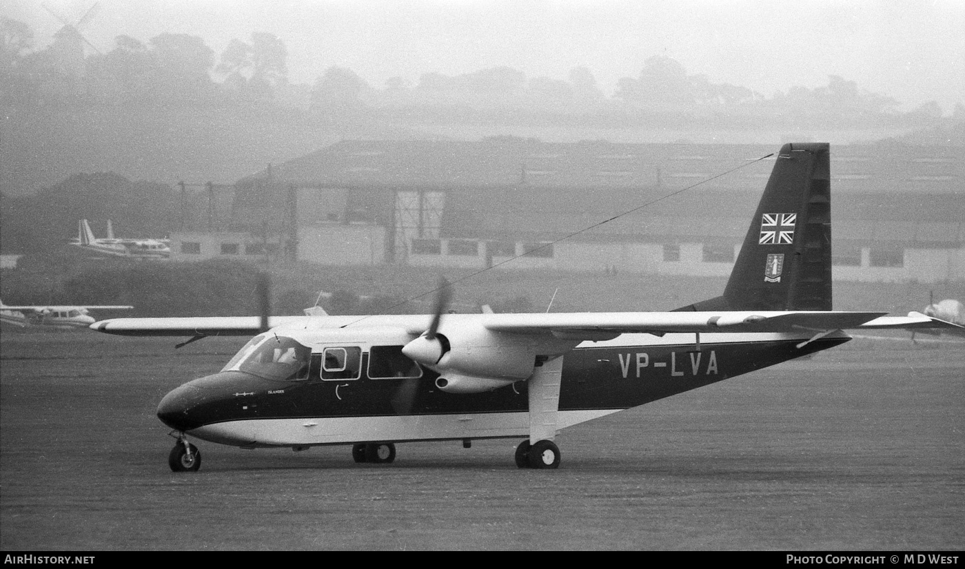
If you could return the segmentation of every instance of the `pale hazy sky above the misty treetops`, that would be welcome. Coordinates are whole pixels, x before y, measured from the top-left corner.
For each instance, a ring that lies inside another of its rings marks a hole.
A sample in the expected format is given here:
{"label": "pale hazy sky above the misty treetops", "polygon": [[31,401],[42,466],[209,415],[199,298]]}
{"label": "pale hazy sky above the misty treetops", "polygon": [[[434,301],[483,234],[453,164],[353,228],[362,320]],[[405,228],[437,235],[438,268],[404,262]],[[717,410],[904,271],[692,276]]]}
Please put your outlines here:
{"label": "pale hazy sky above the misty treetops", "polygon": [[0,0],[36,46],[94,4],[82,32],[101,51],[125,34],[200,36],[217,55],[269,32],[289,50],[290,80],[329,66],[373,87],[401,76],[509,66],[565,79],[585,66],[607,95],[654,55],[688,73],[763,95],[827,84],[829,74],[895,97],[905,109],[965,103],[965,0]]}

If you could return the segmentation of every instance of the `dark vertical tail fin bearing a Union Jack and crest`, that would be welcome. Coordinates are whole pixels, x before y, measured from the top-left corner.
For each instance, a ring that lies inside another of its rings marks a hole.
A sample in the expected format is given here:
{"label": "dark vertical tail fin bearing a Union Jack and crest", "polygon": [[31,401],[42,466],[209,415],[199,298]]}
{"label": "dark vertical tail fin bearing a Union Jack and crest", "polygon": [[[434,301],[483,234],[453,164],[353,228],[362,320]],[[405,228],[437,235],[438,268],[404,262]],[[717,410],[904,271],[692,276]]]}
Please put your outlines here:
{"label": "dark vertical tail fin bearing a Union Jack and crest", "polygon": [[782,147],[724,294],[678,310],[832,310],[830,178],[827,143]]}

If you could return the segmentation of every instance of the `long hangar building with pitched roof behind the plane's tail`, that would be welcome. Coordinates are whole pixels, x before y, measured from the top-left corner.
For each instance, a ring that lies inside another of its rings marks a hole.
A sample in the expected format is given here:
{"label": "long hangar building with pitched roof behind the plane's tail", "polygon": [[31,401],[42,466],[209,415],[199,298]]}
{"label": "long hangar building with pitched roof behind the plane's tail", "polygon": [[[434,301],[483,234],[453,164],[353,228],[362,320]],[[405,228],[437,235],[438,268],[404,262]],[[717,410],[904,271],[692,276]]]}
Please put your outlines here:
{"label": "long hangar building with pitched roof behind the plane's tail", "polygon": [[[776,151],[344,141],[239,180],[220,231],[174,235],[173,258],[726,275]],[[831,174],[835,279],[965,280],[965,149],[834,146]]]}

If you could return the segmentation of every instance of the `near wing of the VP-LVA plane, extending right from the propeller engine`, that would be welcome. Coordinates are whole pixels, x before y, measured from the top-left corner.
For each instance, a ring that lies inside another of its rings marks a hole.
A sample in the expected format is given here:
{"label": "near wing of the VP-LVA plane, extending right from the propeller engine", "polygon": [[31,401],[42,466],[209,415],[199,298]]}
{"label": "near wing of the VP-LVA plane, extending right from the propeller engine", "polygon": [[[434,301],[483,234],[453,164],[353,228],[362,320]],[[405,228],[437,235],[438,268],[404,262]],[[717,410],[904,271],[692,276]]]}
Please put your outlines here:
{"label": "near wing of the VP-LVA plane, extending right from the propeller engine", "polygon": [[493,332],[579,339],[647,333],[821,332],[858,328],[886,312],[575,312],[483,314],[483,326]]}

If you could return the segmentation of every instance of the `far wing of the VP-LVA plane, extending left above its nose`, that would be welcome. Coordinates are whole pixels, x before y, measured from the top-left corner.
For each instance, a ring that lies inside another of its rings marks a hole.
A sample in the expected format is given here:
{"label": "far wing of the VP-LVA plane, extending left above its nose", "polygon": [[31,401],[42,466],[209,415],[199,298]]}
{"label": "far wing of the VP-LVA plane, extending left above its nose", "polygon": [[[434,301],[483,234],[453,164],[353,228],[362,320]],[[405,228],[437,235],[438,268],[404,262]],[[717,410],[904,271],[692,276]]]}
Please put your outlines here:
{"label": "far wing of the VP-LVA plane, extending left above its nose", "polygon": [[[306,316],[269,316],[268,328],[305,318]],[[255,336],[263,331],[260,316],[114,318],[95,322],[90,328],[118,336]]]}

